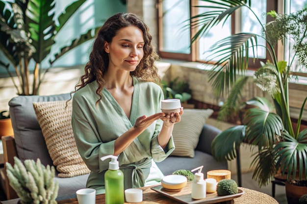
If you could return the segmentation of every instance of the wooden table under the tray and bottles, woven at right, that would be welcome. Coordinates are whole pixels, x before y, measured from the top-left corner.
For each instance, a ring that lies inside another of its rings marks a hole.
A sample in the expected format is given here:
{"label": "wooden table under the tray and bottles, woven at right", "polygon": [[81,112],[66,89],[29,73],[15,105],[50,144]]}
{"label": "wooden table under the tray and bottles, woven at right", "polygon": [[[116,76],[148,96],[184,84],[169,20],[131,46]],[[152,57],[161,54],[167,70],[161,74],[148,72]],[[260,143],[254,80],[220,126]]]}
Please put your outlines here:
{"label": "wooden table under the tray and bottles, woven at right", "polygon": [[[143,187],[143,202],[138,204],[182,204],[179,201],[166,197],[156,191],[153,191],[150,187]],[[245,193],[238,198],[234,198],[230,201],[218,202],[216,204],[278,204],[278,202],[271,196],[260,193],[255,190],[247,188],[241,188]],[[17,204],[19,199],[13,199],[9,201],[2,201],[1,204]],[[260,202],[260,203],[259,203]],[[78,204],[77,198],[58,201],[58,204]],[[105,204],[104,194],[96,196],[96,204]],[[125,203],[128,204],[128,203]]]}

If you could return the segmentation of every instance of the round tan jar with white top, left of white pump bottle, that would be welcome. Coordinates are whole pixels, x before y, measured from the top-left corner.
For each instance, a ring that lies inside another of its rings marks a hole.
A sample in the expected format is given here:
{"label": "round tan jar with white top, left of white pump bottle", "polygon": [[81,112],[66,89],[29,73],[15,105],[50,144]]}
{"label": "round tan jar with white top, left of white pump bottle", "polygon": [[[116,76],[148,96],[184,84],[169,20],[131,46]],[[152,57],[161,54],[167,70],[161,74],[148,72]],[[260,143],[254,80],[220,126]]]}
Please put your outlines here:
{"label": "round tan jar with white top, left of white pump bottle", "polygon": [[161,185],[168,191],[180,191],[187,183],[182,175],[168,175],[162,178]]}

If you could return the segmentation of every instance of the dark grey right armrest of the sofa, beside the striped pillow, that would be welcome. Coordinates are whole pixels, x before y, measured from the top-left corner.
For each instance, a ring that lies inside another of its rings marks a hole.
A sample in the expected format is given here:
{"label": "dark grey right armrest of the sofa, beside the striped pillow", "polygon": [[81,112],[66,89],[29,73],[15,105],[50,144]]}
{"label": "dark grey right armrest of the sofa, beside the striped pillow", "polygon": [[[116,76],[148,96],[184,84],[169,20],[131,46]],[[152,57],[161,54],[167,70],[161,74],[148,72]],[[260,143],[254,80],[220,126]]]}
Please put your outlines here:
{"label": "dark grey right armrest of the sofa, beside the striped pillow", "polygon": [[199,141],[196,147],[196,150],[200,150],[209,155],[212,155],[211,152],[211,143],[213,139],[222,131],[212,125],[205,124],[201,135],[199,137]]}

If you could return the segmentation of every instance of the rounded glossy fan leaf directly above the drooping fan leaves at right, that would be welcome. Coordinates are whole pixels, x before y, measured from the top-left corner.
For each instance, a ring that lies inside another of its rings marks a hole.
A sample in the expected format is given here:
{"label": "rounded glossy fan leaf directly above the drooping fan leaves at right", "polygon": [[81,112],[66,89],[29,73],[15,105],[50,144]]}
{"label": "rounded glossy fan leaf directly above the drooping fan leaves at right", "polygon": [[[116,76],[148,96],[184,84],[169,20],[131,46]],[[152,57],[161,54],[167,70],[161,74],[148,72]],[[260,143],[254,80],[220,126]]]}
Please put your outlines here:
{"label": "rounded glossy fan leaf directly above the drooping fan leaves at right", "polygon": [[279,141],[283,124],[281,117],[276,113],[270,113],[261,109],[249,109],[243,119],[246,128],[246,141],[258,146],[272,147]]}

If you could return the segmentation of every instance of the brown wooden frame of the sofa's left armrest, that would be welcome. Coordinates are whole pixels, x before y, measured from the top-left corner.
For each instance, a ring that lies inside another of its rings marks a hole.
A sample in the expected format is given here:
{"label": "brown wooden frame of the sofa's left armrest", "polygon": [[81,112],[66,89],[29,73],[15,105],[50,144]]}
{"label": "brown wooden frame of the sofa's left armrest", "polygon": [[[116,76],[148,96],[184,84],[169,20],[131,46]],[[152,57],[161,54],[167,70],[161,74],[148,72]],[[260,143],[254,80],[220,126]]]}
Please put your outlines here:
{"label": "brown wooden frame of the sofa's left armrest", "polygon": [[[6,165],[5,163],[8,162],[14,165],[14,157],[18,157],[15,139],[12,136],[2,136],[2,145],[3,145],[3,160],[4,160],[4,171],[6,172]],[[18,198],[17,193],[14,189],[10,186],[8,182],[8,178],[5,175],[5,193],[7,200]]]}

